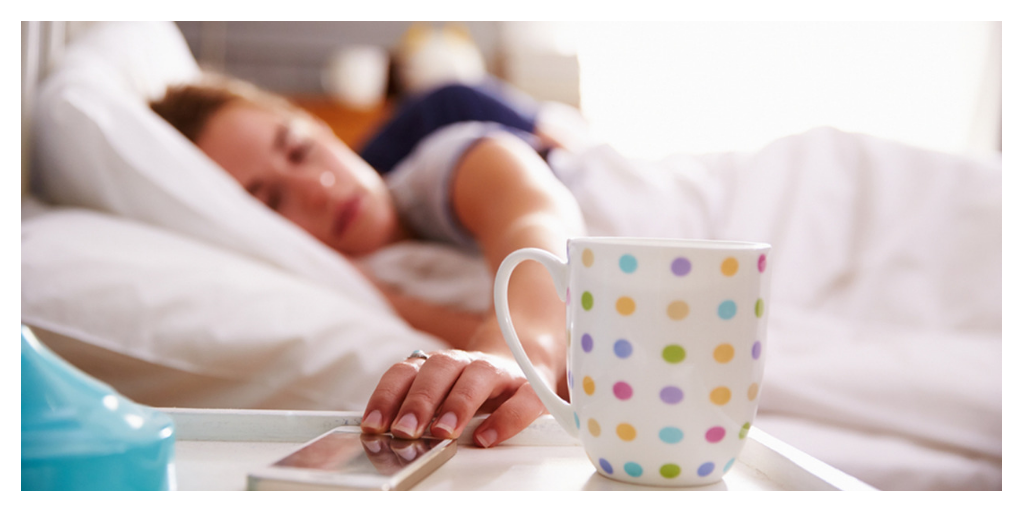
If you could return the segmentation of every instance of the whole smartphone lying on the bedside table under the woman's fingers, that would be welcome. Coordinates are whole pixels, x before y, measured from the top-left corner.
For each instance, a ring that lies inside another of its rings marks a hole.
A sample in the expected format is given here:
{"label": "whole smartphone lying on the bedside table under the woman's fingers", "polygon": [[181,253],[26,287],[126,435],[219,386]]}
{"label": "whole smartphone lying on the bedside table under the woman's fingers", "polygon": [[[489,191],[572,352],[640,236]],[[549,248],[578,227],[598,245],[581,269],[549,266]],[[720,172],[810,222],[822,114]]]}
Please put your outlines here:
{"label": "whole smartphone lying on the bedside table under the woman's fingers", "polygon": [[406,490],[451,459],[455,439],[338,427],[249,474],[249,490]]}

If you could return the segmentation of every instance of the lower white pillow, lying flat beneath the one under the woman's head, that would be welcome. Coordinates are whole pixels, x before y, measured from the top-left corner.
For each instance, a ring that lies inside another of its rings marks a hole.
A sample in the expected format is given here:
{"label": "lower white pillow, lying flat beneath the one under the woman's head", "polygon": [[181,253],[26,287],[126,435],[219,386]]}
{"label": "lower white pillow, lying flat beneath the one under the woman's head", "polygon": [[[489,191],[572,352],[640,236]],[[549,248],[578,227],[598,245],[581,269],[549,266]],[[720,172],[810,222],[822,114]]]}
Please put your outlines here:
{"label": "lower white pillow, lying flat beneath the one under the woman's head", "polygon": [[358,411],[387,368],[442,347],[362,297],[146,224],[31,200],[23,217],[22,322],[143,403]]}

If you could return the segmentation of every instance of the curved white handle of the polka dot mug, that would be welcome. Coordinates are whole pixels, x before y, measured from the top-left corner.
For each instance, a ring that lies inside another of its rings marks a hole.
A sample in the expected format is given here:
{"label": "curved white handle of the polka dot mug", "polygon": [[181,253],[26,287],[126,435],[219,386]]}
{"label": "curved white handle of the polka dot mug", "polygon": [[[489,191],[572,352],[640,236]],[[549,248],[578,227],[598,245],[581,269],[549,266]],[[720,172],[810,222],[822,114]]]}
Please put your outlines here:
{"label": "curved white handle of the polka dot mug", "polygon": [[498,313],[498,326],[502,330],[505,342],[508,343],[509,348],[512,350],[512,355],[526,375],[526,379],[529,381],[537,396],[541,398],[541,402],[544,403],[544,407],[548,409],[551,416],[558,421],[558,424],[566,432],[577,436],[579,428],[573,419],[572,407],[569,406],[569,402],[559,397],[541,377],[541,374],[537,372],[534,364],[529,361],[526,351],[522,348],[519,336],[515,334],[515,329],[512,328],[512,315],[509,313],[508,298],[509,278],[512,276],[512,270],[519,263],[528,259],[543,264],[548,269],[551,280],[555,283],[555,290],[558,291],[558,297],[562,301],[565,300],[568,288],[568,263],[541,249],[519,249],[505,257],[501,266],[498,267],[498,273],[495,274],[495,311]]}

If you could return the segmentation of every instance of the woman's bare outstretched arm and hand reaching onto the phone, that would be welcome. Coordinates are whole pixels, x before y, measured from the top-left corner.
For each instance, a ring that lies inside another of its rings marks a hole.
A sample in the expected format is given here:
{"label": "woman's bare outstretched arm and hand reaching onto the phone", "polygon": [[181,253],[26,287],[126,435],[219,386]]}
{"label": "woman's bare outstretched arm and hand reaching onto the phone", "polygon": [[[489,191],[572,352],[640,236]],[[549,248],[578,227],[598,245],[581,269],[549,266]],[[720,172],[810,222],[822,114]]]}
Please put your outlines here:
{"label": "woman's bare outstretched arm and hand reaching onto the phone", "polygon": [[[568,190],[527,144],[511,136],[483,139],[466,152],[456,168],[453,203],[493,272],[524,247],[564,256],[566,240],[584,232]],[[564,396],[565,306],[542,265],[525,262],[513,272],[509,304],[526,353]],[[429,428],[435,436],[456,437],[478,411],[493,412],[474,434],[484,446],[511,437],[545,411],[512,359],[494,311],[466,351],[392,367],[368,403],[364,430],[390,427],[418,437]]]}

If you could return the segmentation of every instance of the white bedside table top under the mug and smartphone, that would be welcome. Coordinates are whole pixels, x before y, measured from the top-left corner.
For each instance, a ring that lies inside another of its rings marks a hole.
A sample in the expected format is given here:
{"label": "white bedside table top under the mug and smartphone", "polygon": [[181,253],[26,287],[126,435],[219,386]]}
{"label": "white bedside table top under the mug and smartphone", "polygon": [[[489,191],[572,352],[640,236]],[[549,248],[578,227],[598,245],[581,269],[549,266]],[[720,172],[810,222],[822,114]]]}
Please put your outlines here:
{"label": "white bedside table top under the mug and smartphone", "polygon": [[[267,466],[360,413],[163,409],[176,425],[180,490],[243,490],[249,471]],[[481,419],[474,420],[479,423]],[[503,444],[483,450],[469,432],[455,457],[413,490],[679,490],[631,485],[599,475],[583,446],[545,416]],[[693,490],[874,490],[874,487],[752,428],[725,478]]]}

